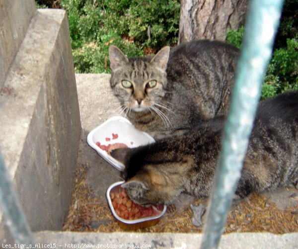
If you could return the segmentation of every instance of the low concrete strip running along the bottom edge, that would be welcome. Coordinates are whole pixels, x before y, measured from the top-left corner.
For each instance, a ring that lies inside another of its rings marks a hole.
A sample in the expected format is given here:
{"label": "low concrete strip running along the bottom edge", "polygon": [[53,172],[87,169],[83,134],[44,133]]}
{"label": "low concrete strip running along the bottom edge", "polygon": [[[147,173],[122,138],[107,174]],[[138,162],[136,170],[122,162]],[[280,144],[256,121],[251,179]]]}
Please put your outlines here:
{"label": "low concrete strip running along the bottom edge", "polygon": [[[131,248],[198,249],[202,234],[171,233],[34,233],[35,243],[53,244],[56,248]],[[228,234],[221,238],[219,249],[297,249],[298,234],[274,235],[269,233]],[[137,246],[139,245],[139,247]],[[126,246],[126,247],[125,247]]]}

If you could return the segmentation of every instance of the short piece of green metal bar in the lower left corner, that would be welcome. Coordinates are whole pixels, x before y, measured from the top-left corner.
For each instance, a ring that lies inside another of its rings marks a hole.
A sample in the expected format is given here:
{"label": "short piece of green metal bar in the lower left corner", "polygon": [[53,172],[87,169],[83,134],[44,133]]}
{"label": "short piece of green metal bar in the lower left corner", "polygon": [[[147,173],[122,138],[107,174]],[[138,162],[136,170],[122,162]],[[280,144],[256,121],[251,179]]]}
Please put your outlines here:
{"label": "short piece of green metal bar in the lower left corner", "polygon": [[0,153],[0,207],[3,217],[10,230],[14,242],[25,244],[27,247],[33,245],[33,239],[25,215],[19,204],[18,197],[10,176],[4,165],[2,154]]}

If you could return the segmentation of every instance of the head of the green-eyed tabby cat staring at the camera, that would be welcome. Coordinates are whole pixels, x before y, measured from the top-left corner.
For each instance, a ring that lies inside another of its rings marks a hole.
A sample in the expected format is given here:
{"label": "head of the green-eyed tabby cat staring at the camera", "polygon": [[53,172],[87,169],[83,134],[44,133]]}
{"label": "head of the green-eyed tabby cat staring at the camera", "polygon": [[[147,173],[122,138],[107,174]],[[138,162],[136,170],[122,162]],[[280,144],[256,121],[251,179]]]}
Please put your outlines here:
{"label": "head of the green-eyed tabby cat staring at the camera", "polygon": [[169,47],[153,58],[127,58],[114,45],[109,48],[111,87],[123,109],[142,112],[154,109],[165,95]]}

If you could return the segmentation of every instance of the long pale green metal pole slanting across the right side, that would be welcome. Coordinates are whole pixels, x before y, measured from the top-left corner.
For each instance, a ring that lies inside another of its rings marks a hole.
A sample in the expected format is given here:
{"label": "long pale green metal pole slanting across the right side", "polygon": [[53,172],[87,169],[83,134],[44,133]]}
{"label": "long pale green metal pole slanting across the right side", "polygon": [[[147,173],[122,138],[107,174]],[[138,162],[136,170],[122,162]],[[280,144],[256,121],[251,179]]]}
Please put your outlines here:
{"label": "long pale green metal pole slanting across the right side", "polygon": [[251,0],[238,61],[230,112],[224,127],[222,151],[210,196],[201,248],[217,248],[230,209],[271,58],[283,0]]}

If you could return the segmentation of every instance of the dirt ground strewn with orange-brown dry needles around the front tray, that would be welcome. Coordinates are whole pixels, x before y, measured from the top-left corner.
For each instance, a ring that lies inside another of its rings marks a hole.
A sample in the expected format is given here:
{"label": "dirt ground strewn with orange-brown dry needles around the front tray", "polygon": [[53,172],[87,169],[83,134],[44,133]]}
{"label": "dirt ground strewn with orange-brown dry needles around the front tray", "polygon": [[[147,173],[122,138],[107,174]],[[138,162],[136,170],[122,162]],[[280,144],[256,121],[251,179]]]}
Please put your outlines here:
{"label": "dirt ground strewn with orange-brown dry needles around the front tray", "polygon": [[[122,180],[121,173],[88,146],[86,136],[87,132],[83,132],[72,203],[62,230],[122,231],[105,196],[109,185]],[[193,225],[194,213],[190,205],[207,206],[207,202],[208,200],[181,195],[175,204],[167,208],[157,225],[136,232],[200,233],[203,226]],[[233,206],[228,213],[224,233],[232,232],[298,232],[298,190],[294,187],[280,188],[270,193],[253,194]]]}

